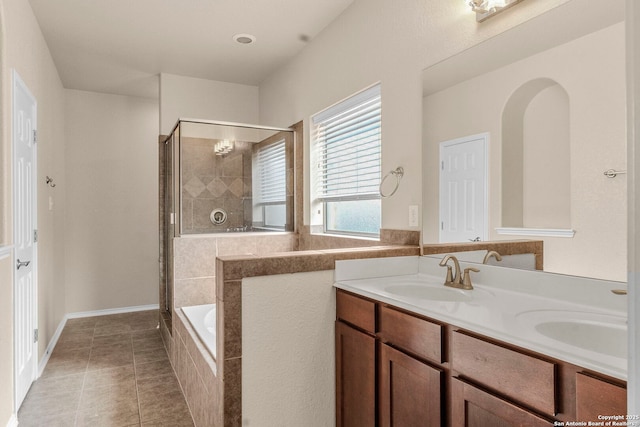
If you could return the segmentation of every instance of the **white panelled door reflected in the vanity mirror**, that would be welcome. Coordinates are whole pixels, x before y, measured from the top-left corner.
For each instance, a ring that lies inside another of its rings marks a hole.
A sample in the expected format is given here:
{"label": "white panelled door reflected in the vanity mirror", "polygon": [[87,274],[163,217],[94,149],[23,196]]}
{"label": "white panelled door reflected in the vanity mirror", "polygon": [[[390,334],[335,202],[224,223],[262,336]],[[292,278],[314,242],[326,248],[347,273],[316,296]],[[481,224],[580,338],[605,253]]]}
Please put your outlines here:
{"label": "white panelled door reflected in the vanity mirror", "polygon": [[489,135],[440,143],[440,242],[484,241]]}

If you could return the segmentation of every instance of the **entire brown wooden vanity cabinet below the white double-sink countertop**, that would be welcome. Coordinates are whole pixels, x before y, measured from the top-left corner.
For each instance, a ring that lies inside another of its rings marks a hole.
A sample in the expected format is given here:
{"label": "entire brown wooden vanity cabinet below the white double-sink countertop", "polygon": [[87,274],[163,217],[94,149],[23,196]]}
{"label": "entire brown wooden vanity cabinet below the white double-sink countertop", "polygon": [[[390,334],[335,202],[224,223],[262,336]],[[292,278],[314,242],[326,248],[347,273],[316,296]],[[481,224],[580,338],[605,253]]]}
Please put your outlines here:
{"label": "entire brown wooden vanity cabinet below the white double-sink countertop", "polygon": [[618,379],[340,289],[336,299],[339,427],[536,427],[626,414]]}

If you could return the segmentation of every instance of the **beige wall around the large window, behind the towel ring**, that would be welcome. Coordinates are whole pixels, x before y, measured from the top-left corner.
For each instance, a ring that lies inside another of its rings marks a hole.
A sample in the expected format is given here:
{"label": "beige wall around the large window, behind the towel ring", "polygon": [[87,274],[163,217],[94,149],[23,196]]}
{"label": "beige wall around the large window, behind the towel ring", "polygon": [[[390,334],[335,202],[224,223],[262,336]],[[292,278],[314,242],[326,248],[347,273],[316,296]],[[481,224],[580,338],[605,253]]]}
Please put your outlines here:
{"label": "beige wall around the large window, behind the towel ring", "polygon": [[[523,2],[478,25],[463,1],[416,0],[398,7],[386,0],[356,0],[260,84],[260,120],[288,126],[304,119],[308,150],[310,115],[380,81],[383,173],[397,166],[405,170],[398,192],[383,200],[382,227],[410,229],[409,205],[422,202],[422,70],[564,2]],[[305,189],[305,207],[308,197]]]}

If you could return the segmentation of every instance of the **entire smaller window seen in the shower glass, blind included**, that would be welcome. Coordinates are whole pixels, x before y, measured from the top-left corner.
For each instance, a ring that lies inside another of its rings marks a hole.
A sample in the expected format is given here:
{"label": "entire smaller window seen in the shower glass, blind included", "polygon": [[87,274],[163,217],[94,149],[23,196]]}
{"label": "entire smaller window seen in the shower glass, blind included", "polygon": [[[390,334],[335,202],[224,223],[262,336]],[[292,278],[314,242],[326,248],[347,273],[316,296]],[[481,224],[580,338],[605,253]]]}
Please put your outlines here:
{"label": "entire smaller window seen in the shower glass, blind included", "polygon": [[253,224],[282,229],[287,222],[286,145],[281,139],[259,147],[253,158]]}

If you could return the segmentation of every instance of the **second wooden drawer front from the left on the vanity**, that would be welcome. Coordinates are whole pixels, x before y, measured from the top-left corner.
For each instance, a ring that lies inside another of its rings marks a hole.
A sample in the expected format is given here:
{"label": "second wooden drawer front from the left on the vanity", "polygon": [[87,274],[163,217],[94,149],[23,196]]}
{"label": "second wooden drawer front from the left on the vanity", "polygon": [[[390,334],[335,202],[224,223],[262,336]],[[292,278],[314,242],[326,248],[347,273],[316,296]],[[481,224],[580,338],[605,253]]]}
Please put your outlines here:
{"label": "second wooden drawer front from the left on the vanity", "polygon": [[442,363],[442,325],[393,308],[380,307],[378,336],[417,356]]}

